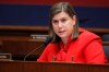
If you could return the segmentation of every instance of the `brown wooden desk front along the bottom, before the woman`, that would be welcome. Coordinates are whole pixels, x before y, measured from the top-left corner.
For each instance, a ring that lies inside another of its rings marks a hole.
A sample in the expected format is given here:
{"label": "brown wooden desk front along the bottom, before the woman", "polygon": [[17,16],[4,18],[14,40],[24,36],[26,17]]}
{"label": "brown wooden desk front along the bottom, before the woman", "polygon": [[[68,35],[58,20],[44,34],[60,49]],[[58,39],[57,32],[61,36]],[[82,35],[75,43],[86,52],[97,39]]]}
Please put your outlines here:
{"label": "brown wooden desk front along the bottom, before the woman", "polygon": [[0,61],[0,72],[109,72],[109,64]]}

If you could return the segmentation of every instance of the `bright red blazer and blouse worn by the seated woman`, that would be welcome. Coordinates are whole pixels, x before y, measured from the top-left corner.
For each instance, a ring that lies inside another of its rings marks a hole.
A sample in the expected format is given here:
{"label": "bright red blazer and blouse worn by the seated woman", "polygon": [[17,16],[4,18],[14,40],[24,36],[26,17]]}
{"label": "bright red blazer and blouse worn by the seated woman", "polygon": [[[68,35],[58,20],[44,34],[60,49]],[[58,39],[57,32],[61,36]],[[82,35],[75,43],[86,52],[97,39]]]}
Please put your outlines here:
{"label": "bright red blazer and blouse worn by the seated woman", "polygon": [[49,44],[37,61],[73,61],[77,63],[105,63],[105,52],[99,36],[80,28],[80,36],[68,41]]}

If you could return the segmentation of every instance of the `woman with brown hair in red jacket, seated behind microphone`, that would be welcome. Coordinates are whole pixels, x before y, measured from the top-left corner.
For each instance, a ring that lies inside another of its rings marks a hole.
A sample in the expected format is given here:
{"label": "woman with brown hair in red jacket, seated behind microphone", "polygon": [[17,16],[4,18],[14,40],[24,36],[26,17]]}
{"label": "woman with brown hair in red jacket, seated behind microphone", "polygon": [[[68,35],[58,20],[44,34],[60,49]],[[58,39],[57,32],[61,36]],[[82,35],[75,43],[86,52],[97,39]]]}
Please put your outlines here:
{"label": "woman with brown hair in red jacket, seated behind microphone", "polygon": [[49,28],[53,39],[37,61],[105,63],[100,37],[78,28],[77,16],[70,3],[59,2],[51,8]]}

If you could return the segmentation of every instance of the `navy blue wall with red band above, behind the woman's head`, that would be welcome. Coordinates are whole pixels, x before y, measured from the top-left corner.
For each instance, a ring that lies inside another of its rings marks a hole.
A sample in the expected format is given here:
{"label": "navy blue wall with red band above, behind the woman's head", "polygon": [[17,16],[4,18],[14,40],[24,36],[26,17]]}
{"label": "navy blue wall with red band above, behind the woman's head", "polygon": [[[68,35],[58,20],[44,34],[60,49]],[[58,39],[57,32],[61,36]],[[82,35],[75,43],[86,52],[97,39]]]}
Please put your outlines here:
{"label": "navy blue wall with red band above, behind the woman's head", "polygon": [[[60,0],[65,1],[65,0]],[[80,19],[81,27],[109,27],[108,0],[66,0]],[[0,25],[48,26],[49,9],[58,0],[1,0]]]}

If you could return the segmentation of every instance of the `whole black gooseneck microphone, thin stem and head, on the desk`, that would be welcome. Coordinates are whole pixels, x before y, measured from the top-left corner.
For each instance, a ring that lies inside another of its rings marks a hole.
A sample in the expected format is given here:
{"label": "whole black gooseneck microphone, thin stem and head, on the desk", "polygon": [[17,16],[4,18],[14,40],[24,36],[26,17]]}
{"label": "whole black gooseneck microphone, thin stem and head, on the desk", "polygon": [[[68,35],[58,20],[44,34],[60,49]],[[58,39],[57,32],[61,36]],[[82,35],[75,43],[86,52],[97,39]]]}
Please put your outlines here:
{"label": "whole black gooseneck microphone, thin stem and head, on the desk", "polygon": [[32,50],[31,52],[28,52],[25,57],[24,57],[24,61],[26,60],[26,58],[33,53],[35,50],[39,49],[43,46],[47,46],[50,41],[52,40],[52,37],[48,36],[46,41],[44,41],[40,46],[36,47],[34,50]]}

